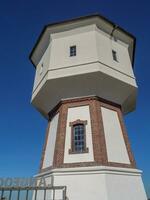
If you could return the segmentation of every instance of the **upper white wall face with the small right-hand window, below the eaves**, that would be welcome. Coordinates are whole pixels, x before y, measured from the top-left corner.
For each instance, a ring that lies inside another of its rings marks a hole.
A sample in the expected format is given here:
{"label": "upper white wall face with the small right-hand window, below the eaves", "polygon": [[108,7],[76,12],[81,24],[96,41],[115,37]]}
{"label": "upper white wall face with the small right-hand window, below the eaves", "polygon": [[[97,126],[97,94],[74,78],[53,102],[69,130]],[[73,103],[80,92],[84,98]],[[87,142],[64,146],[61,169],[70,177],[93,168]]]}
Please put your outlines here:
{"label": "upper white wall face with the small right-hand window, below the eaves", "polygon": [[[134,78],[128,45],[114,39],[97,28],[96,44],[99,61],[114,70]],[[113,60],[112,50],[116,51],[118,62]]]}

